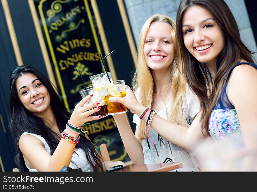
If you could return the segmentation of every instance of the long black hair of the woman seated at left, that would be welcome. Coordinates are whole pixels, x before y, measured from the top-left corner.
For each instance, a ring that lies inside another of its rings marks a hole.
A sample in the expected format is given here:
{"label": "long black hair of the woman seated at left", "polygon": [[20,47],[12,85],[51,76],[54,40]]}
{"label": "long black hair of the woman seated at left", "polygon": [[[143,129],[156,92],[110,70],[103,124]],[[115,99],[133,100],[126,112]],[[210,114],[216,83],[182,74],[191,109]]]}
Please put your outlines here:
{"label": "long black hair of the woman seated at left", "polygon": [[[60,132],[65,129],[65,124],[70,119],[71,114],[67,111],[65,106],[60,100],[60,97],[56,94],[49,80],[38,70],[34,69],[31,66],[19,66],[11,72],[10,75],[10,122],[9,127],[15,136],[15,143],[17,144],[18,153],[15,157],[15,163],[19,166],[22,171],[28,171],[23,155],[18,147],[18,141],[20,135],[23,132],[34,133],[41,135],[46,140],[47,144],[51,149],[51,155],[53,155],[58,143],[60,142],[61,136],[54,131],[52,131],[45,123],[44,120],[36,115],[33,115],[28,111],[24,105],[21,103],[15,82],[18,77],[24,75],[25,73],[34,74],[42,84],[47,88],[50,95],[50,107],[55,116],[55,120]],[[57,139],[59,138],[59,139]],[[95,165],[90,158],[90,154],[93,157],[93,160],[96,162],[101,170],[103,171],[103,165],[100,156],[95,153],[95,147],[93,142],[88,140],[86,137],[81,137],[80,142],[76,144],[77,148],[84,150],[88,162],[96,170]]]}

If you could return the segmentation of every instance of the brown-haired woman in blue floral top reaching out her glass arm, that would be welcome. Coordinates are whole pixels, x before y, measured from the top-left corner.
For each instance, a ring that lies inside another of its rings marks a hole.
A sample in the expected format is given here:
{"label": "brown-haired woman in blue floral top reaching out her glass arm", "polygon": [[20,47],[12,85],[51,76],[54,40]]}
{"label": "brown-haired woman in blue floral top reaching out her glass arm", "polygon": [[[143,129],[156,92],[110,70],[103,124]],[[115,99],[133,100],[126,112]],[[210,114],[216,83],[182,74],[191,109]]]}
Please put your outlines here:
{"label": "brown-haired woman in blue floral top reaching out her glass arm", "polygon": [[[183,72],[199,98],[200,112],[189,129],[158,115],[153,116],[151,127],[189,151],[205,136],[215,141],[237,136],[245,148],[255,148],[257,65],[240,39],[229,7],[223,0],[182,0],[176,23]],[[130,90],[126,92],[124,98],[112,101],[123,103],[139,115],[145,106]],[[147,123],[149,117],[150,110],[143,120]]]}

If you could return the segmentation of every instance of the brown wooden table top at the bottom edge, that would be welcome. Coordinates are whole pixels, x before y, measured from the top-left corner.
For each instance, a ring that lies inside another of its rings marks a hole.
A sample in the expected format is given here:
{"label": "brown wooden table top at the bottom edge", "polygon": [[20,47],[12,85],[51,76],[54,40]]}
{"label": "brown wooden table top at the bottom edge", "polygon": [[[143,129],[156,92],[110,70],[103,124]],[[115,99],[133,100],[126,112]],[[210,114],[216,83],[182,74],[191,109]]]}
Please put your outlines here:
{"label": "brown wooden table top at the bottom edge", "polygon": [[115,172],[136,172],[136,171],[172,171],[183,167],[182,162],[175,163],[154,163],[143,165],[127,165]]}

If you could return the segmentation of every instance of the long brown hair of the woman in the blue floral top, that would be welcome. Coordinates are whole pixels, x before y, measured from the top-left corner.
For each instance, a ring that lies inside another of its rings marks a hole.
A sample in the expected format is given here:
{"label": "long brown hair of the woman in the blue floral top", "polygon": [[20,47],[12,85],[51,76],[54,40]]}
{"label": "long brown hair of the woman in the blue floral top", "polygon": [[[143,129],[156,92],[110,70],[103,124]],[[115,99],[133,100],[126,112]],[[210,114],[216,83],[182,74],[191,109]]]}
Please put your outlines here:
{"label": "long brown hair of the woman in the blue floral top", "polygon": [[[217,74],[214,79],[211,79],[211,74],[205,63],[200,63],[193,57],[184,44],[182,32],[183,14],[192,5],[207,9],[213,15],[225,35],[225,46],[217,56]],[[199,98],[202,128],[206,129],[206,132],[209,134],[209,117],[218,102],[229,70],[240,59],[253,63],[253,52],[242,42],[235,18],[223,0],[181,0],[176,23],[183,73],[186,75],[188,85]]]}

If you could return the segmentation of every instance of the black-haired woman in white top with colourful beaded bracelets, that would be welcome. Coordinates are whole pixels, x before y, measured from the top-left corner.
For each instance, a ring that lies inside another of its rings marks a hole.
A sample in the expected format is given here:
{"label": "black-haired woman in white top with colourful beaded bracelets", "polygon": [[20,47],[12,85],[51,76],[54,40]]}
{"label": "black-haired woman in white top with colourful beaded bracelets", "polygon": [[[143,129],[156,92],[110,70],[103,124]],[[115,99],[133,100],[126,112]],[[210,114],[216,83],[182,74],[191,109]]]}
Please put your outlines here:
{"label": "black-haired woman in white top with colourful beaded bracelets", "polygon": [[103,171],[121,164],[103,162],[93,142],[81,135],[82,124],[100,118],[88,117],[100,110],[99,103],[84,105],[92,96],[83,98],[70,114],[43,74],[30,66],[13,70],[9,126],[18,145],[15,160],[22,171],[60,171],[64,166]]}

